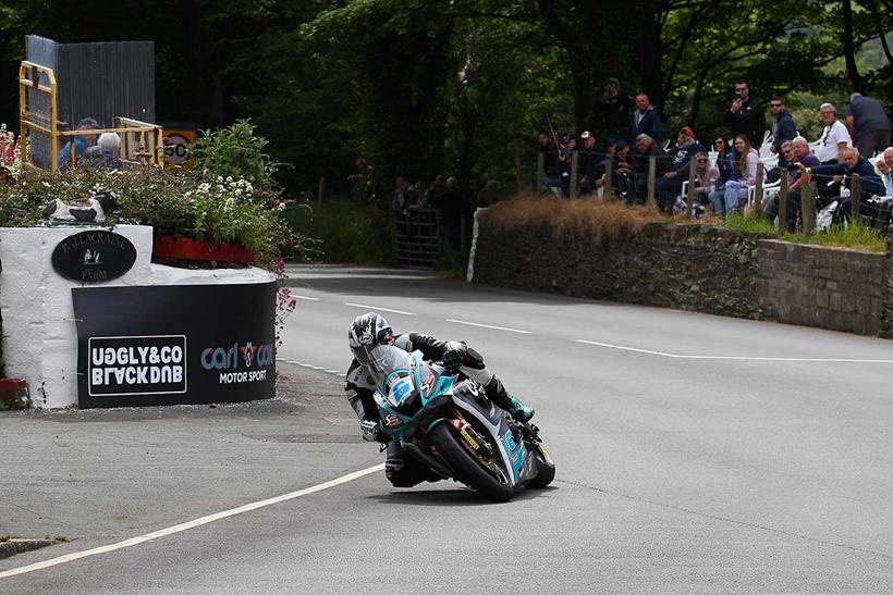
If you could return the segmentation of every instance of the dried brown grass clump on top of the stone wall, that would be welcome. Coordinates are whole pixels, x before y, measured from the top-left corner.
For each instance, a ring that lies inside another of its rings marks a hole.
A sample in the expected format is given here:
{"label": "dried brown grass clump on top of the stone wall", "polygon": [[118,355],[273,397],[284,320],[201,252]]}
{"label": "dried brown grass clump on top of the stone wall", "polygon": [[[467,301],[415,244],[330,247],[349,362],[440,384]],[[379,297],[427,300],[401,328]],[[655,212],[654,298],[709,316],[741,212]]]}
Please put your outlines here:
{"label": "dried brown grass clump on top of the stone wall", "polygon": [[668,221],[656,208],[627,207],[615,200],[558,200],[531,195],[500,201],[481,213],[481,220],[501,232],[548,227],[556,236],[586,236],[596,241],[628,237],[648,223]]}

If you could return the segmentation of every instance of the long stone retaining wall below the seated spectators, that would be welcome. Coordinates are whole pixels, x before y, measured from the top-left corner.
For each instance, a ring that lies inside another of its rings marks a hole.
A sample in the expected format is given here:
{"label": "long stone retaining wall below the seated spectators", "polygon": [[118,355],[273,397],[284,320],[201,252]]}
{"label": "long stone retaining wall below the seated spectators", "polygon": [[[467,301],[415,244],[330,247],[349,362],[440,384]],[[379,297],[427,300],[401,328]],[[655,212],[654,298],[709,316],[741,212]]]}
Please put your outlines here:
{"label": "long stone retaining wall below the seated spectators", "polygon": [[886,255],[706,225],[652,223],[622,238],[481,223],[476,282],[893,337]]}

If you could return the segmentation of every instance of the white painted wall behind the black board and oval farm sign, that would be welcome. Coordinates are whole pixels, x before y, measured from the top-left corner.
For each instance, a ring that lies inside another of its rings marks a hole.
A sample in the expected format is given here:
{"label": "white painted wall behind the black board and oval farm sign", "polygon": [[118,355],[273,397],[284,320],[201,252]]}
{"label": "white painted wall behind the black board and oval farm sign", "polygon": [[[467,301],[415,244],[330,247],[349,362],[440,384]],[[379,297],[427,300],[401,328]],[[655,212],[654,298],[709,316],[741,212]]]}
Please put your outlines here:
{"label": "white painted wall behind the black board and oval farm sign", "polygon": [[[0,227],[0,314],[7,375],[28,382],[35,407],[57,409],[77,404],[77,329],[69,281],[51,264],[52,251],[70,235],[94,227]],[[108,227],[96,227],[108,228]],[[136,262],[125,275],[91,286],[205,285],[267,283],[261,269],[175,269],[151,263],[152,228],[112,228],[136,247]]]}

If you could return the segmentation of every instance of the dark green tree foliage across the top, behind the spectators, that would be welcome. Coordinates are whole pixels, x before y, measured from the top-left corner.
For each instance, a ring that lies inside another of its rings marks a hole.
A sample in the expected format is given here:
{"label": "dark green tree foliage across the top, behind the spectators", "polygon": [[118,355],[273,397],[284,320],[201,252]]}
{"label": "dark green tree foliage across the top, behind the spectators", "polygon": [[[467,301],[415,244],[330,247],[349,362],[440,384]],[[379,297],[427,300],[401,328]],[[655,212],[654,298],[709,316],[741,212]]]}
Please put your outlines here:
{"label": "dark green tree foliage across the top, behind the spectators", "polygon": [[0,121],[24,35],[151,39],[159,119],[250,117],[291,191],[338,190],[364,156],[382,191],[445,173],[470,202],[486,179],[526,182],[518,147],[547,119],[598,129],[609,76],[670,134],[723,131],[738,77],[809,108],[853,90],[891,106],[891,0],[0,0]]}

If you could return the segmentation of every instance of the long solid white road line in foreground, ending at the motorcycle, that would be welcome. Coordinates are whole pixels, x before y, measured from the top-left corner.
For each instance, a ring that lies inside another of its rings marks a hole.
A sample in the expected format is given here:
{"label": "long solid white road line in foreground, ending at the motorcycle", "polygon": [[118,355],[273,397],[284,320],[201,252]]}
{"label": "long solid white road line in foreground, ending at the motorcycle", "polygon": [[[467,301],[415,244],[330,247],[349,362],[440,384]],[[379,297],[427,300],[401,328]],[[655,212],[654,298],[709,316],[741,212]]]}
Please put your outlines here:
{"label": "long solid white road line in foreground, ending at the motorcycle", "polygon": [[118,542],[115,544],[103,545],[101,547],[96,547],[94,549],[85,549],[84,551],[75,551],[73,554],[65,554],[64,556],[59,556],[58,558],[52,558],[50,560],[45,560],[42,562],[35,562],[33,565],[23,566],[20,568],[13,568],[10,570],[4,570],[0,572],[0,579],[7,579],[9,577],[15,577],[16,574],[25,574],[26,572],[34,572],[35,570],[42,570],[45,568],[50,568],[53,566],[59,566],[65,562],[71,562],[74,560],[79,560],[81,558],[87,558],[89,556],[96,556],[98,554],[107,554],[109,551],[114,551],[115,549],[123,549],[125,547],[131,547],[134,545],[139,545],[142,543],[149,542],[151,540],[157,540],[159,537],[167,537],[168,535],[173,535],[174,533],[181,533],[183,531],[187,531],[189,529],[195,529],[196,526],[201,526],[203,524],[212,523],[215,521],[219,521],[221,519],[225,519],[228,517],[234,517],[236,515],[242,515],[243,512],[250,512],[252,510],[257,510],[258,508],[264,508],[267,506],[272,506],[274,504],[283,503],[286,500],[292,500],[294,498],[299,498],[301,496],[307,496],[309,494],[315,494],[316,492],[321,492],[323,489],[328,489],[330,487],[334,487],[337,485],[341,485],[343,483],[347,483],[364,475],[368,475],[369,473],[376,473],[384,469],[384,463],[377,464],[375,467],[369,467],[367,469],[363,469],[360,471],[354,471],[353,473],[347,473],[346,475],[342,475],[341,478],[337,478],[334,480],[320,483],[318,485],[314,485],[310,487],[305,487],[304,489],[298,489],[297,492],[291,492],[289,494],[283,494],[281,496],[276,496],[273,498],[268,498],[266,500],[259,500],[252,504],[246,504],[244,506],[240,506],[238,508],[231,508],[230,510],[223,510],[222,512],[216,512],[213,515],[208,515],[207,517],[201,517],[195,519],[193,521],[188,521],[185,523],[176,524],[174,526],[169,526],[168,529],[161,529],[159,531],[154,531],[152,533],[146,533],[145,535],[139,535],[138,537],[131,537],[130,540],[125,540],[123,542]]}

